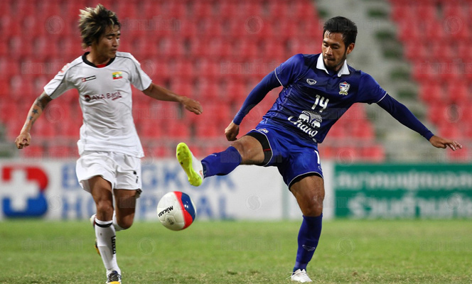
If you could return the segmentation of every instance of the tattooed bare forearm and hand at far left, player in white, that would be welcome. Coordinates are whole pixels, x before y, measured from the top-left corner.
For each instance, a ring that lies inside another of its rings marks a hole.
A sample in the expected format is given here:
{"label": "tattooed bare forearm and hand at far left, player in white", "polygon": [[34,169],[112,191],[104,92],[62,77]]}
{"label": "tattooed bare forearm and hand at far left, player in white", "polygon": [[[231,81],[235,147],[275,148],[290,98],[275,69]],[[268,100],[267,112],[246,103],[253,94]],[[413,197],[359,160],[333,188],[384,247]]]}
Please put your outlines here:
{"label": "tattooed bare forearm and hand at far left, player in white", "polygon": [[26,146],[29,146],[31,143],[31,127],[34,124],[34,121],[38,119],[39,116],[43,113],[44,108],[46,107],[47,104],[49,104],[51,99],[45,92],[41,94],[34,102],[33,105],[31,106],[29,112],[28,112],[28,117],[26,118],[25,125],[20,131],[20,135],[16,137],[15,139],[15,144],[16,148],[18,149],[23,149]]}

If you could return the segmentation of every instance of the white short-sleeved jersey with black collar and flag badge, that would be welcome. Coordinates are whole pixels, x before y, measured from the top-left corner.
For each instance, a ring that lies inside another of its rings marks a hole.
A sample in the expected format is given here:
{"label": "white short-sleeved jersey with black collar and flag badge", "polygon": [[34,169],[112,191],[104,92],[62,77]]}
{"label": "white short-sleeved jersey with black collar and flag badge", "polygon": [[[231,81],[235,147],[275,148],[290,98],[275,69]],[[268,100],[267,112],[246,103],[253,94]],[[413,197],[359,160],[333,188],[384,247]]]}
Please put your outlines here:
{"label": "white short-sleeved jersey with black collar and flag badge", "polygon": [[80,155],[107,151],[143,157],[132,115],[131,84],[142,91],[151,85],[151,79],[129,53],[117,52],[104,67],[96,67],[86,55],[65,65],[44,92],[55,99],[68,89],[79,91],[83,114],[77,142]]}

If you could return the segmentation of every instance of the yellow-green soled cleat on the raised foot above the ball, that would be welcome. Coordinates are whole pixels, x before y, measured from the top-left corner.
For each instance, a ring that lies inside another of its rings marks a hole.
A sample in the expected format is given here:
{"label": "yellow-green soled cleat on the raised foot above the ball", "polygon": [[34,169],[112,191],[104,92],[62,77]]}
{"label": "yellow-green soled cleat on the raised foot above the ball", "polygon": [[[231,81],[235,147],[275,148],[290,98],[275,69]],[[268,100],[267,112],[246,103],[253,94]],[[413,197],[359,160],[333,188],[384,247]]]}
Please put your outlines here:
{"label": "yellow-green soled cleat on the raised foot above the ball", "polygon": [[178,143],[176,155],[178,163],[188,176],[188,182],[193,186],[201,185],[204,178],[202,163],[193,156],[186,143]]}

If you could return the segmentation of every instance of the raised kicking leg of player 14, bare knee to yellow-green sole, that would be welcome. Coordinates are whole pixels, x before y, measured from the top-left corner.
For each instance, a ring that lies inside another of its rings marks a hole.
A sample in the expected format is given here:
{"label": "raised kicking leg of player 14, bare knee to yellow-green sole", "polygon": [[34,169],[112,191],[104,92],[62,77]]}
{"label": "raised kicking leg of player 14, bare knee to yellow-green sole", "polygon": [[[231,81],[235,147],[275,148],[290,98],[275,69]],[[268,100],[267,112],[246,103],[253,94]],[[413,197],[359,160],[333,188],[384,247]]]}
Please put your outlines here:
{"label": "raised kicking leg of player 14, bare knee to yellow-green sole", "polygon": [[257,165],[264,161],[261,143],[252,136],[242,136],[225,151],[210,154],[201,162],[193,156],[186,143],[178,144],[176,155],[188,181],[194,186],[201,185],[204,178],[227,175],[238,165]]}

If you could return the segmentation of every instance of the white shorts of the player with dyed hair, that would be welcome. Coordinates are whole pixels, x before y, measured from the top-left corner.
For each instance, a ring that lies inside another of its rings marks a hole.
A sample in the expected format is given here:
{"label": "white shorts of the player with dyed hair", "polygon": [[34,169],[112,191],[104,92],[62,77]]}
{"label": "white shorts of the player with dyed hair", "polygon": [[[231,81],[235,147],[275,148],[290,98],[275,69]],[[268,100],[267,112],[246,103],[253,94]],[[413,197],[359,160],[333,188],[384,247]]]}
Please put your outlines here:
{"label": "white shorts of the player with dyed hair", "polygon": [[75,165],[80,186],[90,192],[88,180],[100,175],[112,189],[141,189],[141,159],[117,152],[85,151]]}

